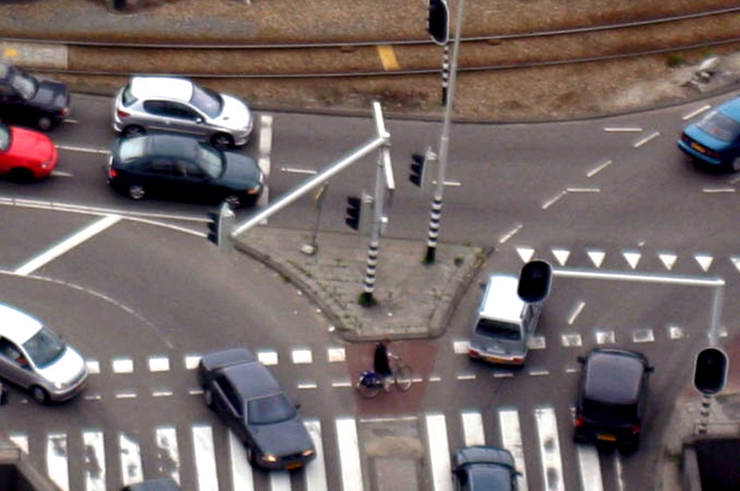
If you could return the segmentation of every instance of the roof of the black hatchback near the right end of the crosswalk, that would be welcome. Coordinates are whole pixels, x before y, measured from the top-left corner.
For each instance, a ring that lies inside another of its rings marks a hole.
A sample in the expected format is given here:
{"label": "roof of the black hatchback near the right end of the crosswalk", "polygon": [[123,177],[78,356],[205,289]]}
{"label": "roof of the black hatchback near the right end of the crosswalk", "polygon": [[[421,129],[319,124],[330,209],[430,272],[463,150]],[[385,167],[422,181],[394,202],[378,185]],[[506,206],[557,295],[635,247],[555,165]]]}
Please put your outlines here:
{"label": "roof of the black hatchback near the right end of the crosswalk", "polygon": [[585,398],[606,404],[633,404],[639,396],[646,365],[645,356],[633,351],[591,351],[585,366]]}

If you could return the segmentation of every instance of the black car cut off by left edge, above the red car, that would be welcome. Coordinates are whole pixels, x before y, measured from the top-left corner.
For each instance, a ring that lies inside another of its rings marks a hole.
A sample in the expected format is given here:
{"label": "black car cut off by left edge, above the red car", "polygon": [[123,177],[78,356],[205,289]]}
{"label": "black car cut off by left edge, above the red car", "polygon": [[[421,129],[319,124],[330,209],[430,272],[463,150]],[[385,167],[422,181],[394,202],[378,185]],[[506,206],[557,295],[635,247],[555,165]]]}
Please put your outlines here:
{"label": "black car cut off by left edge, above the red car", "polygon": [[8,61],[0,61],[0,119],[43,131],[70,114],[70,89],[58,81],[37,78]]}

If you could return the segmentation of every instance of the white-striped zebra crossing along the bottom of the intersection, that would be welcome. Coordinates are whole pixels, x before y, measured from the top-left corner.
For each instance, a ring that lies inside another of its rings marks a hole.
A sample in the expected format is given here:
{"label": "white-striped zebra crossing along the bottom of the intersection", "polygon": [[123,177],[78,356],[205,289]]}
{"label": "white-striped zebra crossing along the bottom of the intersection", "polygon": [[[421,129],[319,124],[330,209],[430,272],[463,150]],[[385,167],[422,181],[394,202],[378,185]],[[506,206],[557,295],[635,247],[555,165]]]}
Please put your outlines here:
{"label": "white-striped zebra crossing along the bottom of the intersection", "polygon": [[[565,490],[564,461],[576,463],[567,472],[578,473],[576,478],[571,476],[571,482],[577,481],[581,490],[605,489],[595,447],[575,445],[574,450],[569,450],[575,455],[563,455],[560,442],[569,441],[570,435],[559,434],[557,418],[570,419],[572,408],[556,414],[554,407],[548,406],[529,411],[499,407],[495,413],[497,416],[492,419],[485,419],[479,410],[428,412],[418,418],[398,418],[417,421],[420,426],[425,455],[420,458],[422,464],[418,468],[428,473],[422,481],[431,483],[423,491],[453,489],[451,453],[456,445],[451,442],[462,442],[465,446],[491,444],[508,449],[520,473],[519,490],[522,491]],[[370,473],[374,466],[370,458],[363,455],[365,442],[362,432],[358,431],[363,421],[353,416],[339,416],[331,423],[324,421],[334,426],[335,438],[326,436],[326,427],[319,419],[303,421],[314,441],[316,458],[294,473],[252,470],[241,441],[221,424],[161,425],[154,427],[147,438],[142,437],[147,432],[88,428],[81,430],[78,436],[48,432],[41,436],[42,441],[35,441],[27,433],[16,432],[10,433],[10,441],[62,491],[75,491],[75,483],[79,482],[84,491],[117,490],[163,476],[172,478],[186,491],[371,491]],[[522,421],[534,424],[533,441],[522,441]],[[491,427],[486,431],[488,425]],[[486,438],[487,434],[497,436]],[[219,444],[219,438],[226,444]],[[189,450],[181,450],[184,447]],[[565,447],[573,449],[571,444]],[[326,449],[330,450],[329,458]],[[152,455],[158,458],[145,461],[144,456]],[[537,465],[533,466],[533,462]],[[327,472],[329,469],[332,472]],[[338,476],[339,482],[329,481],[330,475]]]}

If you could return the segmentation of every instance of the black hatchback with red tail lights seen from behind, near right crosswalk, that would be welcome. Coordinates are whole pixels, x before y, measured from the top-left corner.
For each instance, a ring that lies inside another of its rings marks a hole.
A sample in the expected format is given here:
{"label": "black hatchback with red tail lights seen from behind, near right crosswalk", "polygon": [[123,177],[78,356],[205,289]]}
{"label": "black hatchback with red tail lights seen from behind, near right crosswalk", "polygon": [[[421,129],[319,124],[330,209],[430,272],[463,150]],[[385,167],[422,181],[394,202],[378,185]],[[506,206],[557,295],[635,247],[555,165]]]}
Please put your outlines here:
{"label": "black hatchback with red tail lights seen from behind, near right crosswalk", "polygon": [[639,445],[653,367],[641,353],[596,348],[582,363],[575,441],[604,441],[631,452]]}

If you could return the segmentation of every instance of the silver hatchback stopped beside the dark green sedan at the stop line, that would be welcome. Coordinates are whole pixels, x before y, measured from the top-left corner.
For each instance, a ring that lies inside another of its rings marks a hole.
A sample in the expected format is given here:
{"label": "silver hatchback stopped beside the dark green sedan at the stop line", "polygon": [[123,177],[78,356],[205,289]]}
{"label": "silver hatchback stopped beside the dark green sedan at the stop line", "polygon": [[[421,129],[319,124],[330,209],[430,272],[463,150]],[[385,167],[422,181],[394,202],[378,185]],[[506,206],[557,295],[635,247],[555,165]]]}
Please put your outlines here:
{"label": "silver hatchback stopped beside the dark green sedan at the stop line", "polygon": [[252,123],[242,101],[186,78],[133,77],[113,103],[113,129],[126,137],[178,133],[224,149],[244,145]]}

